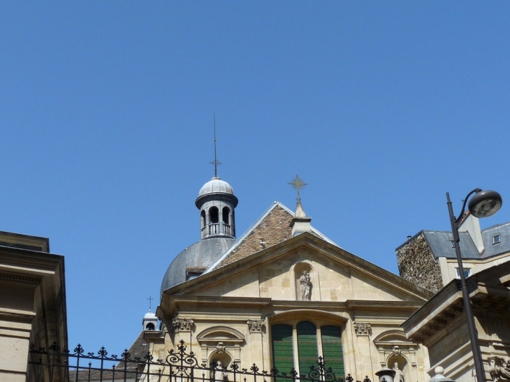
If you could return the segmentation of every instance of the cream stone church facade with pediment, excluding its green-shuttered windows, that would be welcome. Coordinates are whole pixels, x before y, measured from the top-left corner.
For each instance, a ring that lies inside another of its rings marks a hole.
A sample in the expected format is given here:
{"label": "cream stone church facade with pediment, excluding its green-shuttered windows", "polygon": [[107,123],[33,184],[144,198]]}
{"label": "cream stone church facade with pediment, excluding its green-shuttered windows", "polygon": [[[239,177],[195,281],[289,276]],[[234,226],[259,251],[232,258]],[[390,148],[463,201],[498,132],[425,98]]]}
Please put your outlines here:
{"label": "cream stone church facade with pediment, excluding its green-shuttered windows", "polygon": [[[301,297],[303,271],[312,282],[310,300]],[[398,361],[407,381],[425,382],[426,353],[406,339],[400,324],[431,296],[409,281],[303,233],[164,291],[156,311],[163,322],[161,337],[147,337],[147,341],[152,341],[156,358],[182,340],[205,364],[235,362],[249,369],[255,363],[261,370],[270,370],[274,366],[272,326],[290,325],[295,331],[298,323],[307,321],[319,333],[324,325],[341,329],[344,371],[355,379],[377,380],[374,372],[381,365],[393,367]],[[176,322],[193,324],[171,330]],[[296,369],[297,348],[296,342]],[[320,343],[318,348],[320,352]],[[400,349],[398,355],[395,348]]]}

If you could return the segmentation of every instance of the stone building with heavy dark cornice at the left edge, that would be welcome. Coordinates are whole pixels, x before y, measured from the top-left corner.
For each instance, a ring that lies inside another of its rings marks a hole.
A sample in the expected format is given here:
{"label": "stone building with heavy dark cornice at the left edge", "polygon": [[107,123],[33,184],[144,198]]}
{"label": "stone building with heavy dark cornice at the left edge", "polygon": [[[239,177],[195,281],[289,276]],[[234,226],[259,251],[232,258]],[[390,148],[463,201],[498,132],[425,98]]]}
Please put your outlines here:
{"label": "stone building with heavy dark cornice at the left edge", "polygon": [[[54,342],[67,348],[64,256],[50,254],[43,237],[0,232],[0,381],[34,380],[30,344]],[[53,380],[66,380],[64,370]]]}

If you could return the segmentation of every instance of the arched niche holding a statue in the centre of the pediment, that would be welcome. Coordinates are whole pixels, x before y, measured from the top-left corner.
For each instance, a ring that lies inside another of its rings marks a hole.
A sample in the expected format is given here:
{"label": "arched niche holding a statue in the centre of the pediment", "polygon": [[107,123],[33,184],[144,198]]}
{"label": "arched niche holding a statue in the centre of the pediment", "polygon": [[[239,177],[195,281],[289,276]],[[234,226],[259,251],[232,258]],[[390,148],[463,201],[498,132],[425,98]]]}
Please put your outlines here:
{"label": "arched niche holding a statue in the centre of the pediment", "polygon": [[289,278],[297,301],[321,300],[319,273],[316,272],[312,261],[298,260],[293,263],[289,269]]}

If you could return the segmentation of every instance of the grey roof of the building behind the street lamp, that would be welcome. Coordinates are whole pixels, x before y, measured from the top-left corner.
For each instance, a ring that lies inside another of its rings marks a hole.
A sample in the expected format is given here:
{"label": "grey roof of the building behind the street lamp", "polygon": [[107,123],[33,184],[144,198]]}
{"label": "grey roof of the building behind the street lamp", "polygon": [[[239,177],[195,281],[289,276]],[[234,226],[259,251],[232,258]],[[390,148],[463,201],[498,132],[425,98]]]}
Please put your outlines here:
{"label": "grey roof of the building behind the street lamp", "polygon": [[[450,240],[453,240],[451,231],[439,231],[439,230],[421,230],[414,237],[423,233],[425,239],[428,242],[432,254],[435,258],[446,257],[456,258],[455,248],[451,246]],[[500,242],[493,244],[494,235],[500,235]],[[414,239],[411,238],[411,240]],[[495,226],[481,230],[481,237],[483,240],[484,250],[481,254],[476,249],[474,242],[467,232],[459,233],[460,239],[460,254],[465,259],[484,259],[505,254],[510,252],[510,222],[497,224]],[[407,244],[405,242],[400,247]],[[398,249],[400,249],[398,247]],[[397,249],[397,250],[398,250]]]}

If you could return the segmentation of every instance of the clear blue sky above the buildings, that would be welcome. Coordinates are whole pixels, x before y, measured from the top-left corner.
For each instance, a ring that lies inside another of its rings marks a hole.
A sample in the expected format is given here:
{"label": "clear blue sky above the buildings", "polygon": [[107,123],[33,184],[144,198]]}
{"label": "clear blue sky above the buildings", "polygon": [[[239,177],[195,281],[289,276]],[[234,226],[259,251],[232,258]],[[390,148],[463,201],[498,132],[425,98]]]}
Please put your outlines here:
{"label": "clear blue sky above the buildings", "polygon": [[312,225],[398,273],[446,191],[510,203],[509,25],[508,1],[5,1],[0,230],[65,256],[71,348],[122,353],[199,240],[215,112],[238,235],[299,174]]}

